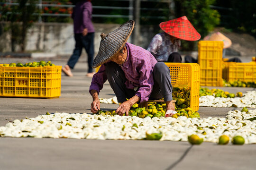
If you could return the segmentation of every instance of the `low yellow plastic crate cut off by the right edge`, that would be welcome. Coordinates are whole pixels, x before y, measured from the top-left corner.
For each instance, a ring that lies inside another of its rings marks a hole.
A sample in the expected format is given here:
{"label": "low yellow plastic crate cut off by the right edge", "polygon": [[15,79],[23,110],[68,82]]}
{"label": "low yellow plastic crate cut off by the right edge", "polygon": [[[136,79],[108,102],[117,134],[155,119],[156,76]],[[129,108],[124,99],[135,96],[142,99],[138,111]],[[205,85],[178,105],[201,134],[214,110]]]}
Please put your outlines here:
{"label": "low yellow plastic crate cut off by the right edge", "polygon": [[223,79],[227,81],[256,82],[256,62],[223,62]]}

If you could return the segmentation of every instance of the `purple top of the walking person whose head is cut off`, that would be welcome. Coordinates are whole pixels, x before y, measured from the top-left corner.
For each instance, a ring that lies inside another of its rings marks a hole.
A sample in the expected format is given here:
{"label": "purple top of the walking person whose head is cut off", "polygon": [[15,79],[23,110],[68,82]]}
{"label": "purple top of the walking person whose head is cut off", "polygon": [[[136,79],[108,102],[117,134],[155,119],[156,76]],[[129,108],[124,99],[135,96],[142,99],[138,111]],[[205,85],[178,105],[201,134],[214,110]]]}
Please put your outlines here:
{"label": "purple top of the walking person whose head is cut off", "polygon": [[94,33],[91,14],[92,4],[90,1],[82,0],[75,4],[72,13],[75,34],[82,33],[85,28],[88,29],[88,33]]}

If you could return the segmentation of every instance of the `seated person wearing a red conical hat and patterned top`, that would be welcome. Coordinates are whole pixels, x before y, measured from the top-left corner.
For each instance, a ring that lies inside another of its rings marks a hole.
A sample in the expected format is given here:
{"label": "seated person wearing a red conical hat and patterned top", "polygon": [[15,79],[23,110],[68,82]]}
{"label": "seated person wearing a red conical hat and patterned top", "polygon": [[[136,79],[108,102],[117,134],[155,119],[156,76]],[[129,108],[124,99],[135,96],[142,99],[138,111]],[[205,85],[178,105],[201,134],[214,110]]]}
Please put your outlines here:
{"label": "seated person wearing a red conical hat and patterned top", "polygon": [[178,53],[181,39],[197,41],[201,38],[186,16],[162,22],[159,26],[164,32],[156,34],[147,47],[157,61],[182,62]]}

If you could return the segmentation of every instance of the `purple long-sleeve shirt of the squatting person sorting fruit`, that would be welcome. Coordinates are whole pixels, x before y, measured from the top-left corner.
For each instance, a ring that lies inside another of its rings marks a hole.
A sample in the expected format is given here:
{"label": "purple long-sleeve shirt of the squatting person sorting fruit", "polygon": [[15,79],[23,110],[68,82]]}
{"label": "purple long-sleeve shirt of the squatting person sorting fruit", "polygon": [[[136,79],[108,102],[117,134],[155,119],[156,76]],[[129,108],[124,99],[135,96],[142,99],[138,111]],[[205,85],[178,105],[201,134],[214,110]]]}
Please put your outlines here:
{"label": "purple long-sleeve shirt of the squatting person sorting fruit", "polygon": [[[127,78],[125,85],[128,89],[138,87],[139,89],[135,95],[140,97],[140,102],[146,102],[153,89],[153,69],[157,61],[149,51],[139,46],[127,42],[126,47],[127,61],[121,66]],[[105,70],[106,66],[102,64],[99,71],[93,75],[89,89],[90,93],[91,90],[100,93],[103,84],[107,81]]]}

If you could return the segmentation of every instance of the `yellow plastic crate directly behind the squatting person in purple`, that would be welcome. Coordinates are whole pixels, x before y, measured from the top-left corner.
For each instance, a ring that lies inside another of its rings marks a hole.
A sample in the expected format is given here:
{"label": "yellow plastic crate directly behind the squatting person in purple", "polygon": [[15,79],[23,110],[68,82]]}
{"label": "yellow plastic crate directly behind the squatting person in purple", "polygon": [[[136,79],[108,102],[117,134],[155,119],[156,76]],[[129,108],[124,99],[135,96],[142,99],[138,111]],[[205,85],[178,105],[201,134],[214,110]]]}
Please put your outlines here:
{"label": "yellow plastic crate directly behind the squatting person in purple", "polygon": [[173,87],[190,87],[190,107],[199,110],[200,66],[197,63],[165,63],[171,72]]}

